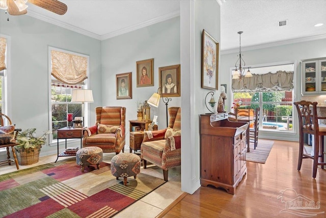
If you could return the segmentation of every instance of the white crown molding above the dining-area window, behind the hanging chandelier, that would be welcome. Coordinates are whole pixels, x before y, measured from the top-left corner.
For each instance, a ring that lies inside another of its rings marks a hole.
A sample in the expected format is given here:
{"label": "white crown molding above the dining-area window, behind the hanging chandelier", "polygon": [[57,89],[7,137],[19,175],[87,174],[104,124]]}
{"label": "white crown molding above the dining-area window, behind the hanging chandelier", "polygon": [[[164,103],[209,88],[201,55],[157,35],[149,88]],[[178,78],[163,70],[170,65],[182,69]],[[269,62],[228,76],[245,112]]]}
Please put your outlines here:
{"label": "white crown molding above the dining-area window, behind the hanging chandelier", "polygon": [[[259,44],[259,45],[253,45],[253,46],[247,46],[242,47],[241,51],[251,51],[256,49],[265,49],[266,47],[275,47],[279,45],[285,45],[285,44],[293,44],[298,42],[306,42],[306,41],[313,41],[313,40],[319,40],[319,39],[326,39],[326,34],[316,35],[316,36],[308,36],[303,38],[297,38],[297,39],[290,39],[285,41],[278,41],[278,42],[272,42],[272,43],[266,43],[266,44]],[[230,53],[237,53],[239,52],[239,49],[230,49],[230,50],[221,50],[221,55],[226,55]]]}

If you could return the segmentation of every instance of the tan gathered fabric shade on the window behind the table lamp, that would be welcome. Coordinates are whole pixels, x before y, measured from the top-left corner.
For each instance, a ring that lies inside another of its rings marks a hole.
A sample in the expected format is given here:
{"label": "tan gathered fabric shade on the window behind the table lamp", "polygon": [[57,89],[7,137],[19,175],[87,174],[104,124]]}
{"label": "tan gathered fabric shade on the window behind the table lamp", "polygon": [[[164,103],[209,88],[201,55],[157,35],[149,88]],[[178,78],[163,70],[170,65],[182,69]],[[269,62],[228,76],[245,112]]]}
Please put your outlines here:
{"label": "tan gathered fabric shade on the window behind the table lamp", "polygon": [[65,84],[81,83],[87,79],[87,58],[52,50],[51,75]]}

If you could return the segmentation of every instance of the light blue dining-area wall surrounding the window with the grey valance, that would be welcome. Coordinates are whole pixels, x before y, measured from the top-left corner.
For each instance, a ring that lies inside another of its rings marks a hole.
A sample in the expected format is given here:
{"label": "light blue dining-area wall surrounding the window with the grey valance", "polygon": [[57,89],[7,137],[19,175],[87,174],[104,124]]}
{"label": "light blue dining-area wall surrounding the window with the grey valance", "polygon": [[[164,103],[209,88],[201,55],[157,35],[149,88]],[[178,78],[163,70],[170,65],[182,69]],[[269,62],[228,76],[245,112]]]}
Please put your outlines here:
{"label": "light blue dining-area wall surrounding the window with the grey valance", "polygon": [[[301,100],[301,60],[313,59],[326,57],[326,39],[319,39],[306,42],[298,42],[292,44],[279,45],[274,47],[266,47],[264,49],[255,49],[247,51],[242,49],[243,59],[246,61],[248,66],[268,64],[284,61],[295,61],[296,62],[296,75],[295,75],[295,91],[294,91],[294,101]],[[230,89],[230,67],[233,67],[237,59],[238,53],[231,53],[221,55],[220,61],[220,80],[221,84],[227,84],[228,91],[231,93]],[[231,98],[227,99],[228,108],[231,107]],[[297,131],[297,128],[295,128]],[[259,132],[260,138],[270,138],[270,139],[280,139],[280,140],[291,140],[298,141],[298,134],[289,133],[271,133],[271,132]]]}

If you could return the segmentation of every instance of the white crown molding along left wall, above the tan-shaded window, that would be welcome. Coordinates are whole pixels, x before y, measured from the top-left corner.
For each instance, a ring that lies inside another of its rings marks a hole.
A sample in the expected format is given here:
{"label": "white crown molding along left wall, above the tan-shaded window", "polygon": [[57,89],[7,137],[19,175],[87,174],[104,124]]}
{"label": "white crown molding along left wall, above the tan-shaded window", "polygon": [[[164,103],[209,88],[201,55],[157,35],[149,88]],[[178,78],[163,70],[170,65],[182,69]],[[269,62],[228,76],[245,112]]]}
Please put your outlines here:
{"label": "white crown molding along left wall, above the tan-shaded window", "polygon": [[83,34],[83,35],[86,35],[86,36],[89,36],[89,37],[100,40],[100,36],[97,35],[97,34],[91,33],[89,31],[80,29],[80,28],[72,26],[72,25],[68,25],[65,22],[62,22],[62,21],[59,21],[59,20],[44,16],[44,15],[41,15],[39,13],[36,13],[36,12],[32,11],[32,10],[29,10],[26,15],[29,15],[29,16],[34,17],[36,19],[40,19],[40,20],[43,20],[45,22],[52,23],[52,24],[54,24],[56,26],[63,27],[65,29],[68,29],[68,30],[71,30],[71,31],[74,31],[74,32],[77,32],[77,33],[80,33],[80,34]]}

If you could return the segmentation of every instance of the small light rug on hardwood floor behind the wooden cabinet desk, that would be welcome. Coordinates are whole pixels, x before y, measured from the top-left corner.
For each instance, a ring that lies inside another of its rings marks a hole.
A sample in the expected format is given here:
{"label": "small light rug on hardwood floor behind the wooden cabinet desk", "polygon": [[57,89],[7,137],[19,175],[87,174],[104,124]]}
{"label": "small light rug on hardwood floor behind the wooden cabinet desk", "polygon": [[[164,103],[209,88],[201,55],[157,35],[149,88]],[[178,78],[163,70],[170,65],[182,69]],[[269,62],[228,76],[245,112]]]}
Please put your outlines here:
{"label": "small light rug on hardwood floor behind the wooden cabinet desk", "polygon": [[254,144],[250,143],[250,152],[246,153],[246,160],[257,163],[265,163],[274,141],[258,139],[258,146],[254,149]]}

